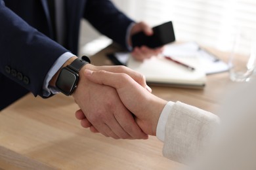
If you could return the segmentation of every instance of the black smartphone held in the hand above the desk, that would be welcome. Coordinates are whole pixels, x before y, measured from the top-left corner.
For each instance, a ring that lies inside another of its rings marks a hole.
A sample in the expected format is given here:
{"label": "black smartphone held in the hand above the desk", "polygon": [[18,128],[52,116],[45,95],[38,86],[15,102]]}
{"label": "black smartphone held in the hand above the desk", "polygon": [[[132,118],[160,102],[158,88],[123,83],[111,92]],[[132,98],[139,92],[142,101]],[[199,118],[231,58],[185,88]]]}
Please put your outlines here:
{"label": "black smartphone held in the hand above the desk", "polygon": [[173,30],[173,23],[166,22],[164,24],[153,27],[154,34],[152,36],[146,35],[144,32],[136,33],[131,37],[133,48],[135,46],[148,46],[149,48],[158,48],[164,44],[175,41],[175,33]]}

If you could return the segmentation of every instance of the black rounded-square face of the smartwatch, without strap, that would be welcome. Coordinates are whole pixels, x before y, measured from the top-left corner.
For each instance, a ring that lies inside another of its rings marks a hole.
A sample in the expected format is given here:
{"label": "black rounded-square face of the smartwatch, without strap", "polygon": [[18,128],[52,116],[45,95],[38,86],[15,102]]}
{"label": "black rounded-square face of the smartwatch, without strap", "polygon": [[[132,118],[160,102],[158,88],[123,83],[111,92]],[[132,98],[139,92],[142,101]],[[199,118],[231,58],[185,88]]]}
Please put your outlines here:
{"label": "black rounded-square face of the smartwatch, without strap", "polygon": [[56,80],[56,88],[66,95],[71,95],[78,80],[78,74],[71,69],[64,68]]}

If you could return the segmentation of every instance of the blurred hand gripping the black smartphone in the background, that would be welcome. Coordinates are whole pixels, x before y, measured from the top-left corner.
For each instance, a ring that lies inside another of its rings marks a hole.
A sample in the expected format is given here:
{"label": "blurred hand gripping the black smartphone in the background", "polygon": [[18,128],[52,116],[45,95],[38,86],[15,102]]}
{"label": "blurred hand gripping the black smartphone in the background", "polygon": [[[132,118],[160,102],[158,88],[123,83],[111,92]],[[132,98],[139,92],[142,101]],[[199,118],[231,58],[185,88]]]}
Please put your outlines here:
{"label": "blurred hand gripping the black smartphone in the background", "polygon": [[[154,34],[152,28],[144,22],[139,22],[133,25],[133,27],[131,28],[130,34],[131,36],[133,36],[135,33],[139,33],[140,31],[144,31],[144,33],[148,36],[151,36]],[[129,39],[129,44],[131,44],[131,37]],[[158,56],[158,54],[161,54],[161,52],[163,52],[163,47],[152,49],[152,48],[148,48],[147,46],[141,46],[141,47],[135,47],[133,49],[132,56],[135,59],[138,59],[141,61],[146,58],[151,58],[152,56]]]}

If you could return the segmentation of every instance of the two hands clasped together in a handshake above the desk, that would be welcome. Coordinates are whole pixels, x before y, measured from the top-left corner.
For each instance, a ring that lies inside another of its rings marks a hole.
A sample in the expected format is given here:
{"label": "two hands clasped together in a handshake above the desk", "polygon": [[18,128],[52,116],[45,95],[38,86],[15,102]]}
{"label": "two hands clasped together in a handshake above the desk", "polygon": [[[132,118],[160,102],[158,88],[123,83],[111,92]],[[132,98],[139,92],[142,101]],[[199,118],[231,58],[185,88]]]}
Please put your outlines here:
{"label": "two hands clasped together in a handshake above the desk", "polygon": [[81,126],[114,139],[156,135],[167,101],[156,97],[144,76],[124,66],[85,65],[73,97]]}

